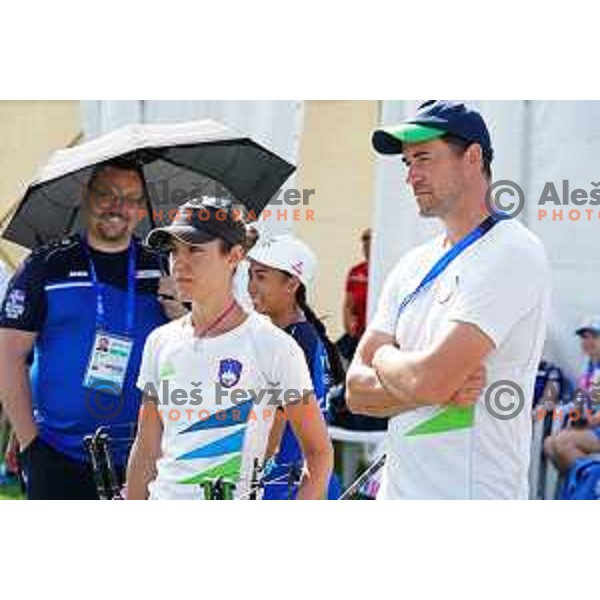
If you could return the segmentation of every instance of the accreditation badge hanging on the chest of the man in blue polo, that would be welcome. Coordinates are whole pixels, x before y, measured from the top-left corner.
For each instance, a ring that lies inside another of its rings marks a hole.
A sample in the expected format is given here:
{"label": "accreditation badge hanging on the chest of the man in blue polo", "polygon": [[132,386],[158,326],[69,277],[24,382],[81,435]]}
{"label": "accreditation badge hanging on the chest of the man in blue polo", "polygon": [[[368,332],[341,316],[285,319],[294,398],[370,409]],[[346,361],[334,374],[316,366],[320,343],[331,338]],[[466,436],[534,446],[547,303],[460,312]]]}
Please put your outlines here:
{"label": "accreditation badge hanging on the chest of the man in blue polo", "polygon": [[120,395],[132,350],[132,339],[105,331],[96,332],[83,386]]}

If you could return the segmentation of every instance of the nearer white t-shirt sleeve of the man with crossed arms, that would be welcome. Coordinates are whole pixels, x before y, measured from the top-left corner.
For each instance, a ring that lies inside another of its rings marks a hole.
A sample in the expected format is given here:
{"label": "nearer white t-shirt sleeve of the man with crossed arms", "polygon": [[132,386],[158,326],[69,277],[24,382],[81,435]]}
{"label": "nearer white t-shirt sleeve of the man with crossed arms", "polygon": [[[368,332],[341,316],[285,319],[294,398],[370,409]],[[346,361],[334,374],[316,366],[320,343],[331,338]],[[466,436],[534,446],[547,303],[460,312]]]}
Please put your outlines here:
{"label": "nearer white t-shirt sleeve of the man with crossed arms", "polygon": [[540,306],[549,276],[542,248],[506,245],[477,269],[461,273],[450,320],[477,326],[498,348],[512,327]]}

